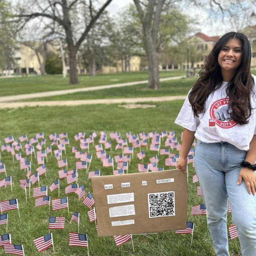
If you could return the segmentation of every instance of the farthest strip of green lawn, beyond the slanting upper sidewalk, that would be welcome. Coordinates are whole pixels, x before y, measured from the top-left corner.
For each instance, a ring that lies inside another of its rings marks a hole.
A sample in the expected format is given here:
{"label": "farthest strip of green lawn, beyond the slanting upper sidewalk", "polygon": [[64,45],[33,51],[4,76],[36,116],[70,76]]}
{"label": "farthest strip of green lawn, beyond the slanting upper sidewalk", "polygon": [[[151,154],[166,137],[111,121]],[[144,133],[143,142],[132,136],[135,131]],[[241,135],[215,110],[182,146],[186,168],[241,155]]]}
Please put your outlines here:
{"label": "farthest strip of green lawn, beyond the slanting upper sidewalk", "polygon": [[[160,72],[161,78],[185,75],[184,71]],[[45,92],[55,90],[74,89],[97,85],[119,84],[124,82],[142,81],[148,79],[148,72],[130,72],[115,74],[100,74],[94,77],[88,75],[79,76],[78,85],[69,85],[69,78],[61,75],[28,76],[22,78],[0,79],[0,97],[7,95],[28,94],[33,92]]]}

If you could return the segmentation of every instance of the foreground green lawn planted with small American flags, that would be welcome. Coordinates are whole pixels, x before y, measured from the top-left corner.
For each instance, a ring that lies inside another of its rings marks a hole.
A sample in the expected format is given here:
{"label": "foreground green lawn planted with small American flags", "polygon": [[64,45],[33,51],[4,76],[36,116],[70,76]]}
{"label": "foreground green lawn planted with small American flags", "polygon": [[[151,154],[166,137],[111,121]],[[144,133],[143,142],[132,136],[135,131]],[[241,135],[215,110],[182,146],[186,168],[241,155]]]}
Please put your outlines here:
{"label": "foreground green lawn planted with small American flags", "polygon": [[[27,134],[29,138],[38,132],[44,132],[49,145],[48,135],[56,132],[68,132],[71,146],[78,146],[75,142],[74,135],[78,132],[86,132],[86,137],[90,133],[96,131],[99,135],[100,131],[105,131],[109,135],[113,131],[120,132],[125,138],[125,133],[130,131],[134,134],[139,132],[161,132],[164,130],[175,130],[178,140],[182,128],[174,124],[174,120],[182,106],[183,101],[154,103],[155,108],[148,109],[133,109],[127,110],[117,105],[87,105],[78,107],[34,107],[20,108],[17,110],[1,110],[0,134],[1,140],[9,135],[15,138],[23,134]],[[96,138],[98,140],[99,136]],[[74,154],[71,153],[71,146],[67,148],[66,158],[68,159],[68,169],[75,168]],[[56,147],[56,146],[55,146]],[[56,149],[56,148],[54,148]],[[110,151],[107,151],[110,153]],[[135,154],[139,149],[135,150]],[[90,153],[93,155],[91,170],[100,168],[102,175],[111,175],[111,167],[102,167],[100,161],[96,158],[95,150],[91,148]],[[111,155],[120,154],[120,150],[113,150]],[[24,154],[23,154],[24,155]],[[144,162],[149,162],[149,157],[154,156],[153,151],[146,153]],[[160,156],[159,166],[164,166],[166,156]],[[81,247],[68,246],[68,233],[77,232],[77,224],[69,224],[71,214],[80,212],[80,233],[87,233],[89,240],[89,250],[91,256],[120,256],[121,248],[116,247],[112,237],[98,238],[95,224],[90,223],[87,217],[88,208],[79,202],[76,194],[69,194],[69,209],[57,210],[48,212],[47,206],[35,208],[34,199],[28,198],[28,203],[25,201],[25,194],[19,187],[19,180],[26,178],[26,173],[20,171],[18,163],[12,162],[12,157],[4,151],[2,153],[2,162],[6,165],[7,175],[12,176],[13,192],[11,188],[0,188],[0,200],[18,198],[20,204],[21,218],[18,217],[16,210],[9,212],[8,232],[12,236],[12,242],[15,244],[23,244],[25,255],[55,255],[55,256],[78,256],[87,255],[87,250]],[[129,167],[129,172],[137,172],[139,160],[135,156]],[[134,236],[135,254],[132,253],[132,244],[128,242],[123,245],[124,256],[214,256],[213,246],[207,230],[206,216],[191,216],[191,206],[202,203],[202,198],[196,195],[196,186],[198,183],[192,184],[192,176],[195,174],[192,169],[192,164],[189,166],[188,179],[188,220],[195,223],[193,243],[190,246],[191,235],[175,235],[174,231],[161,232],[156,235],[151,235],[149,238],[139,235]],[[50,186],[54,180],[58,178],[58,166],[54,156],[48,159],[47,177],[40,177],[40,185]],[[34,173],[37,164],[35,159],[32,163],[32,173]],[[0,174],[0,179],[3,179],[4,174]],[[37,184],[37,183],[36,183]],[[37,185],[32,187],[36,187]],[[91,191],[91,181],[88,180],[86,171],[79,171],[79,185],[85,185],[86,191]],[[66,181],[60,180],[60,197],[64,197],[64,187]],[[49,193],[51,198],[58,198],[58,191],[55,190]],[[53,230],[53,240],[55,254],[52,247],[39,254],[34,246],[33,240],[48,234],[48,218],[49,216],[65,217],[65,229]],[[228,216],[228,225],[231,225],[231,216]],[[5,225],[0,226],[0,234],[5,234]],[[159,244],[158,244],[159,240]],[[229,242],[230,255],[240,255],[238,239]],[[0,255],[5,255],[4,250],[0,249]]]}

